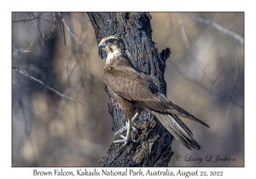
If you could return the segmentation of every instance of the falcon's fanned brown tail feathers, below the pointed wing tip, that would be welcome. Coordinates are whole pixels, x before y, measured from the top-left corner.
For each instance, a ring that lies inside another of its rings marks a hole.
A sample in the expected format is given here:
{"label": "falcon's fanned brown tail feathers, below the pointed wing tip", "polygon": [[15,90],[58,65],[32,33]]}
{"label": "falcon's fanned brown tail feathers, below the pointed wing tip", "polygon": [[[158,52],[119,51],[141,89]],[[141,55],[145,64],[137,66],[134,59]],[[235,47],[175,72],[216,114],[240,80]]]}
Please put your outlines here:
{"label": "falcon's fanned brown tail feathers, below the pointed wing tip", "polygon": [[163,124],[172,136],[174,136],[178,141],[180,141],[185,147],[192,150],[195,148],[199,150],[201,146],[195,141],[192,132],[189,128],[183,124],[183,121],[177,117],[177,115],[172,113],[159,113],[151,111],[156,118],[159,119],[160,123]]}

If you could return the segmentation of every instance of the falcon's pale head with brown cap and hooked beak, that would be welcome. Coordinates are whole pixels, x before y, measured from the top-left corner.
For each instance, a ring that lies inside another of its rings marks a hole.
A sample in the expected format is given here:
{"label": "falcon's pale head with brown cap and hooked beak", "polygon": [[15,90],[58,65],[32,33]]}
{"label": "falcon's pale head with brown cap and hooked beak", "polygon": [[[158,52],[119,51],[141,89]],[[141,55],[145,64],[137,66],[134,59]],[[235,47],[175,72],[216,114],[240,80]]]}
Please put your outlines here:
{"label": "falcon's pale head with brown cap and hooked beak", "polygon": [[99,43],[99,48],[107,52],[108,56],[117,56],[121,55],[120,43],[122,39],[120,36],[107,36],[102,38],[102,41]]}

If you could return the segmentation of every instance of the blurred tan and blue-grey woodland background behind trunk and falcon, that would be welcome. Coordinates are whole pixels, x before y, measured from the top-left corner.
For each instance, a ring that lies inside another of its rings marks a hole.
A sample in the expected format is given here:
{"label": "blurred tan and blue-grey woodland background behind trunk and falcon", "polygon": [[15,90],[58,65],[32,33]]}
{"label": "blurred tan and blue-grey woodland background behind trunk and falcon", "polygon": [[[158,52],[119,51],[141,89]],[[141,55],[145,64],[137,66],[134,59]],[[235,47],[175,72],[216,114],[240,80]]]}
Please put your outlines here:
{"label": "blurred tan and blue-grey woodland background behind trunk and falcon", "polygon": [[[168,99],[211,127],[182,118],[201,150],[174,140],[169,165],[243,166],[244,13],[150,14]],[[87,14],[12,13],[12,32],[12,165],[96,166],[113,130]]]}

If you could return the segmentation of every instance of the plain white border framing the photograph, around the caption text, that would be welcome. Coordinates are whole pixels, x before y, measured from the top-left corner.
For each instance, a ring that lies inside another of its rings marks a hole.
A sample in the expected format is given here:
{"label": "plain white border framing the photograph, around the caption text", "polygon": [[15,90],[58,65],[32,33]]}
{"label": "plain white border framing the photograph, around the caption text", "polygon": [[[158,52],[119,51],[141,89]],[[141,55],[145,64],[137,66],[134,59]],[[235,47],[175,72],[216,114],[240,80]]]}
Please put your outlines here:
{"label": "plain white border framing the photograph, around the caption text", "polygon": [[[1,15],[1,130],[0,139],[1,156],[0,156],[0,176],[1,178],[14,178],[15,176],[34,178],[32,170],[55,170],[60,168],[12,168],[11,167],[11,12],[12,11],[244,11],[245,12],[245,167],[230,168],[169,168],[177,170],[212,170],[224,171],[224,178],[241,178],[241,176],[253,176],[255,168],[255,121],[253,113],[255,112],[255,78],[256,78],[256,58],[255,58],[255,5],[253,1],[134,1],[128,0],[121,3],[121,0],[102,1],[8,1],[2,3]],[[140,5],[135,6],[134,4]],[[63,168],[65,170],[76,170],[76,168]],[[90,168],[91,170],[93,168]],[[101,170],[101,168],[97,168]],[[108,168],[111,170],[111,168]],[[114,168],[117,170],[117,168]],[[122,170],[125,170],[122,168]],[[138,168],[136,169],[138,170]],[[143,169],[146,172],[148,168]],[[150,170],[157,170],[150,168]],[[160,170],[165,170],[160,168]],[[42,176],[40,176],[42,177]],[[44,177],[44,176],[43,176]],[[49,176],[50,177],[50,176]],[[54,176],[51,176],[54,177]],[[50,177],[50,178],[51,178]],[[89,177],[89,176],[81,176]],[[110,176],[113,177],[113,176]],[[114,176],[120,177],[120,176]],[[129,176],[125,176],[129,177]],[[148,176],[147,176],[148,177]],[[150,176],[149,176],[150,177]],[[151,176],[152,177],[152,176]],[[155,177],[155,176],[153,176]],[[172,176],[166,176],[172,177]],[[181,176],[184,178],[184,176]],[[190,176],[193,177],[193,176]],[[250,178],[253,178],[250,177]],[[73,178],[73,176],[65,176]],[[90,178],[90,177],[89,177]],[[178,178],[176,176],[176,178]],[[204,178],[204,177],[201,177]]]}

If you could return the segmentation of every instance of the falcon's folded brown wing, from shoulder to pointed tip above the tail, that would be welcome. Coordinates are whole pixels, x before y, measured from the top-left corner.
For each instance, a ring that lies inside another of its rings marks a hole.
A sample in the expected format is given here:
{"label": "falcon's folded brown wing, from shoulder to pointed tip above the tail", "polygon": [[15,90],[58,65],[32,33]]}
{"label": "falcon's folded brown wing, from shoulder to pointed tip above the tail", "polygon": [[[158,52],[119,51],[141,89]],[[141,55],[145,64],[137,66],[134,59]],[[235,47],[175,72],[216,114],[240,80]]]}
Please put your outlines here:
{"label": "falcon's folded brown wing, from shoulder to pointed tip above the tail", "polygon": [[177,114],[209,127],[200,119],[195,118],[183,108],[169,101],[145,74],[141,74],[128,66],[113,67],[113,70],[105,70],[103,72],[103,81],[117,95],[151,110]]}

